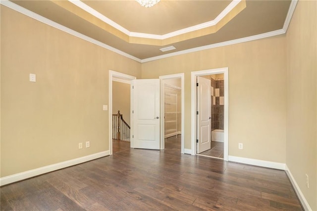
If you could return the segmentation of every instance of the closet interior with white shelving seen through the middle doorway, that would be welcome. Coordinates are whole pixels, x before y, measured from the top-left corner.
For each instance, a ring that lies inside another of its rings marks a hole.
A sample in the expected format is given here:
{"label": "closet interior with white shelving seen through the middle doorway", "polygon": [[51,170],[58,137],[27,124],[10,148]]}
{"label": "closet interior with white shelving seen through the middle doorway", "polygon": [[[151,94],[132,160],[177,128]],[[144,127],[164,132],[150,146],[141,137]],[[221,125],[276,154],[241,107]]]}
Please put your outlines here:
{"label": "closet interior with white shelving seen through the middle doorway", "polygon": [[164,81],[164,138],[181,134],[181,88],[180,79]]}

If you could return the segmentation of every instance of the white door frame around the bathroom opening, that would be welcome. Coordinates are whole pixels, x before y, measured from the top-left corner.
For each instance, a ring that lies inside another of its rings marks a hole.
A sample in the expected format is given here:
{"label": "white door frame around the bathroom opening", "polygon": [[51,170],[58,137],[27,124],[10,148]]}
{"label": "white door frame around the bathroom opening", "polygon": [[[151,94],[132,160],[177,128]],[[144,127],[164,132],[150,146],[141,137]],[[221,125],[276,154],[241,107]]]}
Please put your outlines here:
{"label": "white door frame around the bathroom opening", "polygon": [[223,160],[228,161],[228,125],[229,125],[229,79],[228,79],[228,67],[217,68],[217,69],[209,69],[209,70],[201,70],[201,71],[193,71],[191,72],[191,124],[192,124],[192,155],[197,154],[197,144],[196,144],[196,134],[197,134],[197,76],[202,75],[212,75],[223,73],[224,76],[224,116],[223,116]]}

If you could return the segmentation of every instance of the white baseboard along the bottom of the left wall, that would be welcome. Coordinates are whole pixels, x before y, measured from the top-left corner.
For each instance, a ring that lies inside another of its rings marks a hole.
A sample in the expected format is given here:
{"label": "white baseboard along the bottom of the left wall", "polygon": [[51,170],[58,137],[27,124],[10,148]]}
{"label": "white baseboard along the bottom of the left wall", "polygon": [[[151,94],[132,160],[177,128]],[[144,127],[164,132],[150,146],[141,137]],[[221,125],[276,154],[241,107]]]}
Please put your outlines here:
{"label": "white baseboard along the bottom of the left wall", "polygon": [[13,183],[13,182],[17,182],[17,181],[20,181],[20,180],[24,180],[24,179],[27,179],[27,178],[30,178],[30,177],[38,176],[38,175],[41,175],[41,174],[44,174],[44,173],[48,173],[48,172],[51,172],[51,171],[55,171],[55,170],[58,170],[58,169],[61,169],[61,168],[65,168],[65,167],[69,167],[69,166],[72,166],[72,165],[76,165],[76,164],[79,164],[79,163],[87,162],[89,160],[102,158],[102,157],[105,157],[105,156],[108,156],[108,155],[110,155],[110,152],[107,150],[107,151],[96,153],[96,154],[92,154],[92,155],[89,155],[89,156],[84,156],[84,157],[81,157],[81,158],[75,158],[75,159],[71,159],[71,160],[66,160],[66,161],[58,162],[58,163],[55,163],[55,164],[52,164],[52,165],[47,165],[47,166],[43,166],[43,167],[40,167],[40,168],[29,170],[29,171],[24,171],[24,172],[21,172],[21,173],[17,173],[17,174],[1,177],[0,178],[0,186],[6,185],[6,184],[10,184],[10,183]]}

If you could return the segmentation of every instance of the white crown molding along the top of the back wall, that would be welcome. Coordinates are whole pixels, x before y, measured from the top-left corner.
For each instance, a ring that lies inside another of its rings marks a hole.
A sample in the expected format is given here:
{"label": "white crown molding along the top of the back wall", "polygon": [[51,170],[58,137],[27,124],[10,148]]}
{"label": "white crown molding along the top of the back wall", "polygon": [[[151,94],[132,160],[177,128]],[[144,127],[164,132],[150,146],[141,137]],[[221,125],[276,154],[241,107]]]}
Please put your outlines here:
{"label": "white crown molding along the top of the back wall", "polygon": [[186,50],[179,51],[179,52],[166,53],[166,54],[159,55],[159,56],[144,58],[144,59],[141,59],[141,63],[145,63],[145,62],[148,62],[148,61],[154,61],[154,60],[158,60],[158,59],[161,59],[161,58],[167,58],[167,57],[171,57],[171,56],[174,56],[174,55],[182,55],[182,54],[186,54],[186,53],[193,53],[193,52],[204,51],[204,50],[214,49],[214,48],[223,47],[223,46],[229,46],[229,45],[234,45],[234,44],[239,44],[239,43],[245,43],[245,42],[249,42],[249,41],[254,41],[254,40],[268,38],[268,37],[272,37],[272,36],[276,36],[276,35],[281,35],[281,34],[284,34],[284,33],[285,33],[285,31],[283,29],[279,29],[279,30],[275,30],[275,31],[272,31],[272,32],[266,32],[266,33],[263,33],[263,34],[260,34],[260,35],[254,35],[254,36],[250,36],[250,37],[245,37],[245,38],[240,38],[240,39],[236,39],[236,40],[225,41],[225,42],[222,42],[222,43],[215,43],[215,44],[202,46],[202,47],[197,47],[197,48],[193,48],[193,49],[186,49]]}

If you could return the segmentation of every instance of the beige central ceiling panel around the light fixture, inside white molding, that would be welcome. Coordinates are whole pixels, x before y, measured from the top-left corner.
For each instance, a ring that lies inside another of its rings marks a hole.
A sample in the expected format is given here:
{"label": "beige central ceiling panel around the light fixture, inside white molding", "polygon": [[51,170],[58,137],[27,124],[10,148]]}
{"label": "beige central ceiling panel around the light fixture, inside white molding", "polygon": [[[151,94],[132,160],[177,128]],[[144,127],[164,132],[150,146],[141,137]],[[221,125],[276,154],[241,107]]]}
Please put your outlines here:
{"label": "beige central ceiling panel around the light fixture, inside white molding", "polygon": [[130,32],[164,35],[214,20],[232,0],[161,0],[151,8],[135,0],[83,2]]}

